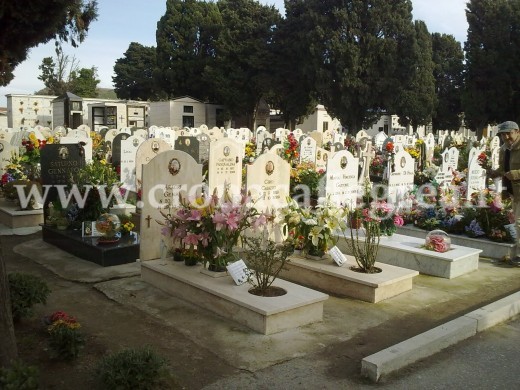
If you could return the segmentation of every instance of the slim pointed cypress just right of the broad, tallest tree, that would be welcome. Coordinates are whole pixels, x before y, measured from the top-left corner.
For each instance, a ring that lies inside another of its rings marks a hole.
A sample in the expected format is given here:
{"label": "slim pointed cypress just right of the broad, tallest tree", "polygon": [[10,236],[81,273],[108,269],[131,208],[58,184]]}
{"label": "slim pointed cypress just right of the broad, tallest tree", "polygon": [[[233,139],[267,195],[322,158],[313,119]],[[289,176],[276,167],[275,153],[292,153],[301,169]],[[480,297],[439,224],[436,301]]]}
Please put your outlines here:
{"label": "slim pointed cypress just right of the broad, tallest tree", "polygon": [[432,41],[422,20],[415,22],[411,48],[407,57],[408,80],[395,91],[397,104],[392,112],[399,115],[401,125],[411,125],[416,132],[417,126],[430,124],[435,104]]}

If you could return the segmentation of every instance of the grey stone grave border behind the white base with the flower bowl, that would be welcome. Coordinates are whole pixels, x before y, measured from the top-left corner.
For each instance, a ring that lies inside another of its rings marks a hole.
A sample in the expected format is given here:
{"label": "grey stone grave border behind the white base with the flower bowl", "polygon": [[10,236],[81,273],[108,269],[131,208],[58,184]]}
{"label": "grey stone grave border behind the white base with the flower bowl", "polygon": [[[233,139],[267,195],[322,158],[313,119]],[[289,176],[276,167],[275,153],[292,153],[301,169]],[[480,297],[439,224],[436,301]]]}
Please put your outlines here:
{"label": "grey stone grave border behind the white base with the flower bowl", "polygon": [[[413,225],[405,225],[397,228],[397,233],[424,240],[428,231],[419,229]],[[503,260],[504,257],[515,256],[515,244],[490,241],[485,238],[471,238],[458,234],[450,234],[451,243],[468,248],[480,249],[480,256],[490,259]]]}

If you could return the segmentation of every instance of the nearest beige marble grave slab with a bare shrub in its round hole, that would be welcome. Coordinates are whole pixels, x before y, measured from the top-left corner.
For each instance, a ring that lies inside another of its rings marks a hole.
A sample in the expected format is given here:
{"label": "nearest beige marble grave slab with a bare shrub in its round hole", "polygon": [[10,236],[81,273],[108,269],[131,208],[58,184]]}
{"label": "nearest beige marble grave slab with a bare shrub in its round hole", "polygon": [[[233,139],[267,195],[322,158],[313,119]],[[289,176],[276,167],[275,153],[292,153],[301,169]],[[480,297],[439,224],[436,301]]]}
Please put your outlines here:
{"label": "nearest beige marble grave slab with a bare shrub in its round hole", "polygon": [[171,294],[263,334],[323,320],[323,302],[328,295],[277,279],[273,285],[287,294],[259,297],[248,292],[249,284],[237,286],[231,276],[212,278],[201,265],[187,267],[171,260],[141,263],[141,278]]}

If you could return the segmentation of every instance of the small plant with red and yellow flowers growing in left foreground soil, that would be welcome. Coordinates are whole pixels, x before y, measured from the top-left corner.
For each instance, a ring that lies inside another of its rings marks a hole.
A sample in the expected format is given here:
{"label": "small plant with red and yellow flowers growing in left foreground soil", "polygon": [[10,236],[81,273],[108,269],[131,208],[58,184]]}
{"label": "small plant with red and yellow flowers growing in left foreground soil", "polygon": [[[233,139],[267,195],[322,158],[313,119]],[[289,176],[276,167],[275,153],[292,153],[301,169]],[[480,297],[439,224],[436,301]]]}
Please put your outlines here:
{"label": "small plant with red and yellow flowers growing in left foreground soil", "polygon": [[49,347],[52,355],[63,360],[78,357],[85,345],[80,323],[63,311],[57,311],[45,318],[49,333]]}

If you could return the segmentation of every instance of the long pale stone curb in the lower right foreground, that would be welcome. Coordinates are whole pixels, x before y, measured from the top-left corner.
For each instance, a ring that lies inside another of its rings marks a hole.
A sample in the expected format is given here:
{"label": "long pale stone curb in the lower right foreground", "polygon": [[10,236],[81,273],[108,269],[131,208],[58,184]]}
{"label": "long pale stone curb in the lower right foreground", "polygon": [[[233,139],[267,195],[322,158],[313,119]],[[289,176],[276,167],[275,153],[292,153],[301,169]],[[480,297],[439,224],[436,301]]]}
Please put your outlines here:
{"label": "long pale stone curb in the lower right foreground", "polygon": [[520,292],[421,333],[361,361],[361,375],[377,382],[420,359],[520,314]]}

